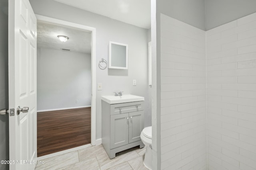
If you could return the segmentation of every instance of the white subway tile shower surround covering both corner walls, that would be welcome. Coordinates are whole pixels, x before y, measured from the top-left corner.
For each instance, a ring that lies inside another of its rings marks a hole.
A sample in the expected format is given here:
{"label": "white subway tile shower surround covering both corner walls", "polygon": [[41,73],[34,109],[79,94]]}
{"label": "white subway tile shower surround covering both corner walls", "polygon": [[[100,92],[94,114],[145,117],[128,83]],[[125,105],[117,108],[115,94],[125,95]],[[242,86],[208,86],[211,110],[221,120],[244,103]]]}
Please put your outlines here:
{"label": "white subway tile shower surround covering both corner walls", "polygon": [[256,13],[206,32],[161,14],[161,161],[256,170]]}

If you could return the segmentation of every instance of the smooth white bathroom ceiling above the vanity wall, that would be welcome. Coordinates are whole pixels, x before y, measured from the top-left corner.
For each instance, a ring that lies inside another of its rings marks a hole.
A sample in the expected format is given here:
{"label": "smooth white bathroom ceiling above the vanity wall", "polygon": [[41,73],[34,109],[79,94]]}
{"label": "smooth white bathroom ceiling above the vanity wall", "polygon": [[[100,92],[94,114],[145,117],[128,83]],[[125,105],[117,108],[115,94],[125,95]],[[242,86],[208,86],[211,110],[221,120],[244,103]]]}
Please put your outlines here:
{"label": "smooth white bathroom ceiling above the vanity wall", "polygon": [[150,28],[150,0],[55,0],[138,27]]}

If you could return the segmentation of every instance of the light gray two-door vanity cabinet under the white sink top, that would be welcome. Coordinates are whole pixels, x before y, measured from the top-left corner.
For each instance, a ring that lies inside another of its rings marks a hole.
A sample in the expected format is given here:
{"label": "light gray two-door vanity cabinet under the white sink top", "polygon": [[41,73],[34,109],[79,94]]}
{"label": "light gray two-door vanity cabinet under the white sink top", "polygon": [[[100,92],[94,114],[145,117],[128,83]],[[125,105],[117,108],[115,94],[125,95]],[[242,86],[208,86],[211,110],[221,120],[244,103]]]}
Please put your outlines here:
{"label": "light gray two-door vanity cabinet under the white sink top", "polygon": [[102,145],[110,159],[122,150],[144,147],[140,140],[143,128],[143,101],[109,104],[102,100]]}

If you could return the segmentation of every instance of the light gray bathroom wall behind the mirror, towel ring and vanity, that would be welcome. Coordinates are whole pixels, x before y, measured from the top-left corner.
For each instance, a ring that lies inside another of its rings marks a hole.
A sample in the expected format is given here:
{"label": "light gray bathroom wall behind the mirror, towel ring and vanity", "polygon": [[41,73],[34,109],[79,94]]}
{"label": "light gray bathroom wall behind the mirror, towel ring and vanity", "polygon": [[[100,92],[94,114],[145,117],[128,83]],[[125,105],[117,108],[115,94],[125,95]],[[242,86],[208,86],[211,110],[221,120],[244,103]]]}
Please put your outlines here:
{"label": "light gray bathroom wall behind the mirror, towel ring and vanity", "polygon": [[[30,0],[35,14],[70,21],[96,28],[96,84],[103,90],[96,93],[96,139],[101,139],[101,96],[113,95],[115,91],[145,98],[145,127],[151,125],[148,109],[148,40],[147,29],[113,20],[85,10],[74,8],[53,0]],[[128,44],[128,70],[98,68],[101,58],[108,60],[108,43],[114,41]],[[132,80],[137,86],[132,86]]]}

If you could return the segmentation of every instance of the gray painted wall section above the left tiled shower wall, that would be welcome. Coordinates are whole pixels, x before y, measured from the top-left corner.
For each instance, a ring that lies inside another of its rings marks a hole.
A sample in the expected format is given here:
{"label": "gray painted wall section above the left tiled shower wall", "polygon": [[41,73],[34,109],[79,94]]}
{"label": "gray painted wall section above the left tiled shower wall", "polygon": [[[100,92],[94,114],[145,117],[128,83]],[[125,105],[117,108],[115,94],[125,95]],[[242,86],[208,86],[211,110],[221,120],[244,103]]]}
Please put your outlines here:
{"label": "gray painted wall section above the left tiled shower wall", "polygon": [[157,0],[160,12],[205,30],[204,0]]}

